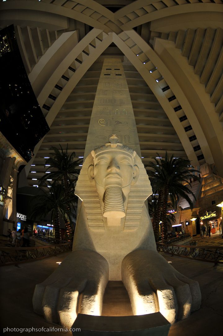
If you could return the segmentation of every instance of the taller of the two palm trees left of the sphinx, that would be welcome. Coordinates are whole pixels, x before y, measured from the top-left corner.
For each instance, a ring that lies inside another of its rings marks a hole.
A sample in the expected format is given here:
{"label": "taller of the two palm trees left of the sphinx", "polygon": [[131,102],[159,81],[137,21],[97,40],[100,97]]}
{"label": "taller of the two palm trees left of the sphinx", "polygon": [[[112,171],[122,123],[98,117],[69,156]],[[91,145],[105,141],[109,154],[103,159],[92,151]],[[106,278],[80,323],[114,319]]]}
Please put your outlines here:
{"label": "taller of the two palm trees left of the sphinx", "polygon": [[[78,175],[80,170],[76,167],[83,161],[82,159],[74,160],[76,154],[72,152],[70,155],[68,154],[68,144],[66,149],[63,150],[61,145],[60,149],[56,147],[51,147],[53,153],[50,153],[50,158],[46,160],[46,164],[50,165],[50,169],[52,168],[53,171],[47,173],[42,176],[40,179],[40,184],[45,182],[47,179],[52,179],[54,181],[62,181],[64,185],[65,194],[70,194],[71,189],[73,188],[74,184],[78,179]],[[49,168],[47,168],[49,170]],[[74,189],[74,188],[73,188]],[[69,208],[66,212],[69,212]],[[67,216],[64,217],[65,221],[65,236],[68,239],[71,239],[72,228]]]}

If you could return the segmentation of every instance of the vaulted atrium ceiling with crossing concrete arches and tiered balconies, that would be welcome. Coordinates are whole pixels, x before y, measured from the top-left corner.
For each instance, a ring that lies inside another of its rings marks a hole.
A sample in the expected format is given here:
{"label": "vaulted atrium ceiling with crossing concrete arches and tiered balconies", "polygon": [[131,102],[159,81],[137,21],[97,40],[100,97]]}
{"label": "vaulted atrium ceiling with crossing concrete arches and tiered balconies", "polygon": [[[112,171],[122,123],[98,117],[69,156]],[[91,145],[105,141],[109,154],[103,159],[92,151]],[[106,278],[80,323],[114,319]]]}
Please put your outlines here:
{"label": "vaulted atrium ceiling with crossing concrete arches and tiered balconies", "polygon": [[84,155],[109,56],[123,61],[143,163],[167,151],[223,176],[221,0],[7,0],[0,9],[50,126],[26,167],[29,185],[52,145]]}

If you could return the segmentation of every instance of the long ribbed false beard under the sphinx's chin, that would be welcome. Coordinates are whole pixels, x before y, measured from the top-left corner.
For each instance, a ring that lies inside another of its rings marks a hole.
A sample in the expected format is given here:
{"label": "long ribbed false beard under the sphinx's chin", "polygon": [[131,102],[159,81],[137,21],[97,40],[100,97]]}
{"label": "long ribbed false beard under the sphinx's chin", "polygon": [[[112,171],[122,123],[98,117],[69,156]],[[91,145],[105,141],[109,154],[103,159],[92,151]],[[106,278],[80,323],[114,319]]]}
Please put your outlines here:
{"label": "long ribbed false beard under the sphinx's chin", "polygon": [[120,225],[125,217],[124,196],[119,186],[109,186],[104,193],[103,216],[107,217],[108,225]]}

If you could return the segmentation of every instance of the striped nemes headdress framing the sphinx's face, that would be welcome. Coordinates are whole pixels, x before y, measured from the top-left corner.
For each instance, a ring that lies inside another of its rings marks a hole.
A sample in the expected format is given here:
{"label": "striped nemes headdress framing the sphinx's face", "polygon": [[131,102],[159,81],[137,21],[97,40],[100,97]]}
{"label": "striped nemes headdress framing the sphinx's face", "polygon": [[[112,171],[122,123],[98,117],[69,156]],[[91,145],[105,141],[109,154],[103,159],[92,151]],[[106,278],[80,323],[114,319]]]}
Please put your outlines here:
{"label": "striped nemes headdress framing the sphinx's face", "polygon": [[77,180],[75,195],[84,202],[85,211],[89,228],[94,230],[104,230],[103,209],[101,209],[99,196],[95,184],[92,184],[88,178],[88,168],[94,165],[94,157],[104,150],[123,150],[133,156],[134,165],[139,168],[139,178],[137,182],[131,185],[128,205],[126,210],[124,230],[136,230],[142,214],[142,207],[145,200],[152,194],[152,188],[144,165],[136,152],[122,143],[118,142],[116,135],[109,138],[109,142],[92,151],[83,163],[80,175]]}

